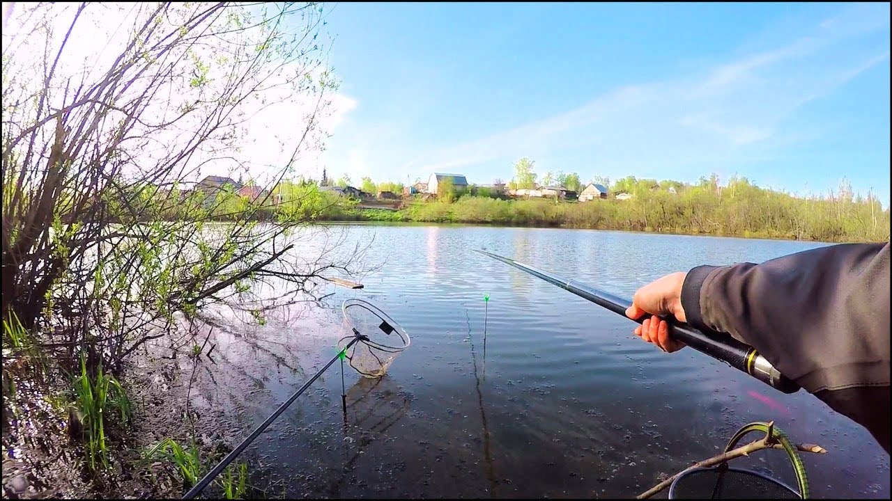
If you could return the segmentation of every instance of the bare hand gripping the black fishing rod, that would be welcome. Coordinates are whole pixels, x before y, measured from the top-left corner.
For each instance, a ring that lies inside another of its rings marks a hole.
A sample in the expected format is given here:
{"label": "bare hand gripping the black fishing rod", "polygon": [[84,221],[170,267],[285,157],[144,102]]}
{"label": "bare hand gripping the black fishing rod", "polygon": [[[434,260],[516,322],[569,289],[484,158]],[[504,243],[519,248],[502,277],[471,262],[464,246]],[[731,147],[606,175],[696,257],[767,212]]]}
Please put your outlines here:
{"label": "bare hand gripping the black fishing rod", "polygon": [[669,337],[669,323],[657,316],[672,315],[679,322],[687,321],[684,308],[681,308],[681,286],[687,275],[685,272],[677,272],[648,283],[635,292],[632,306],[625,310],[625,316],[632,320],[646,313],[656,315],[636,327],[635,335],[668,353],[678,351],[685,345]]}

